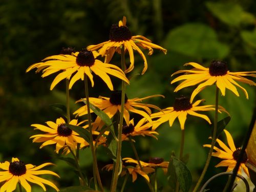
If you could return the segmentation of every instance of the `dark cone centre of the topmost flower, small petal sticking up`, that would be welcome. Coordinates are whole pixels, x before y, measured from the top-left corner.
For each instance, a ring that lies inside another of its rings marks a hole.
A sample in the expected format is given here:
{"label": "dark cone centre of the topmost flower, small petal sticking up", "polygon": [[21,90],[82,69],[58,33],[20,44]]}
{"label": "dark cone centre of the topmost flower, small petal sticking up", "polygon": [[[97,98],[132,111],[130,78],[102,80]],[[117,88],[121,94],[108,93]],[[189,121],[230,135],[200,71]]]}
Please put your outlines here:
{"label": "dark cone centre of the topmost flower, small petal sticking up", "polygon": [[110,28],[110,40],[119,42],[123,40],[130,40],[132,38],[132,33],[126,26],[118,26],[116,24],[112,25]]}

